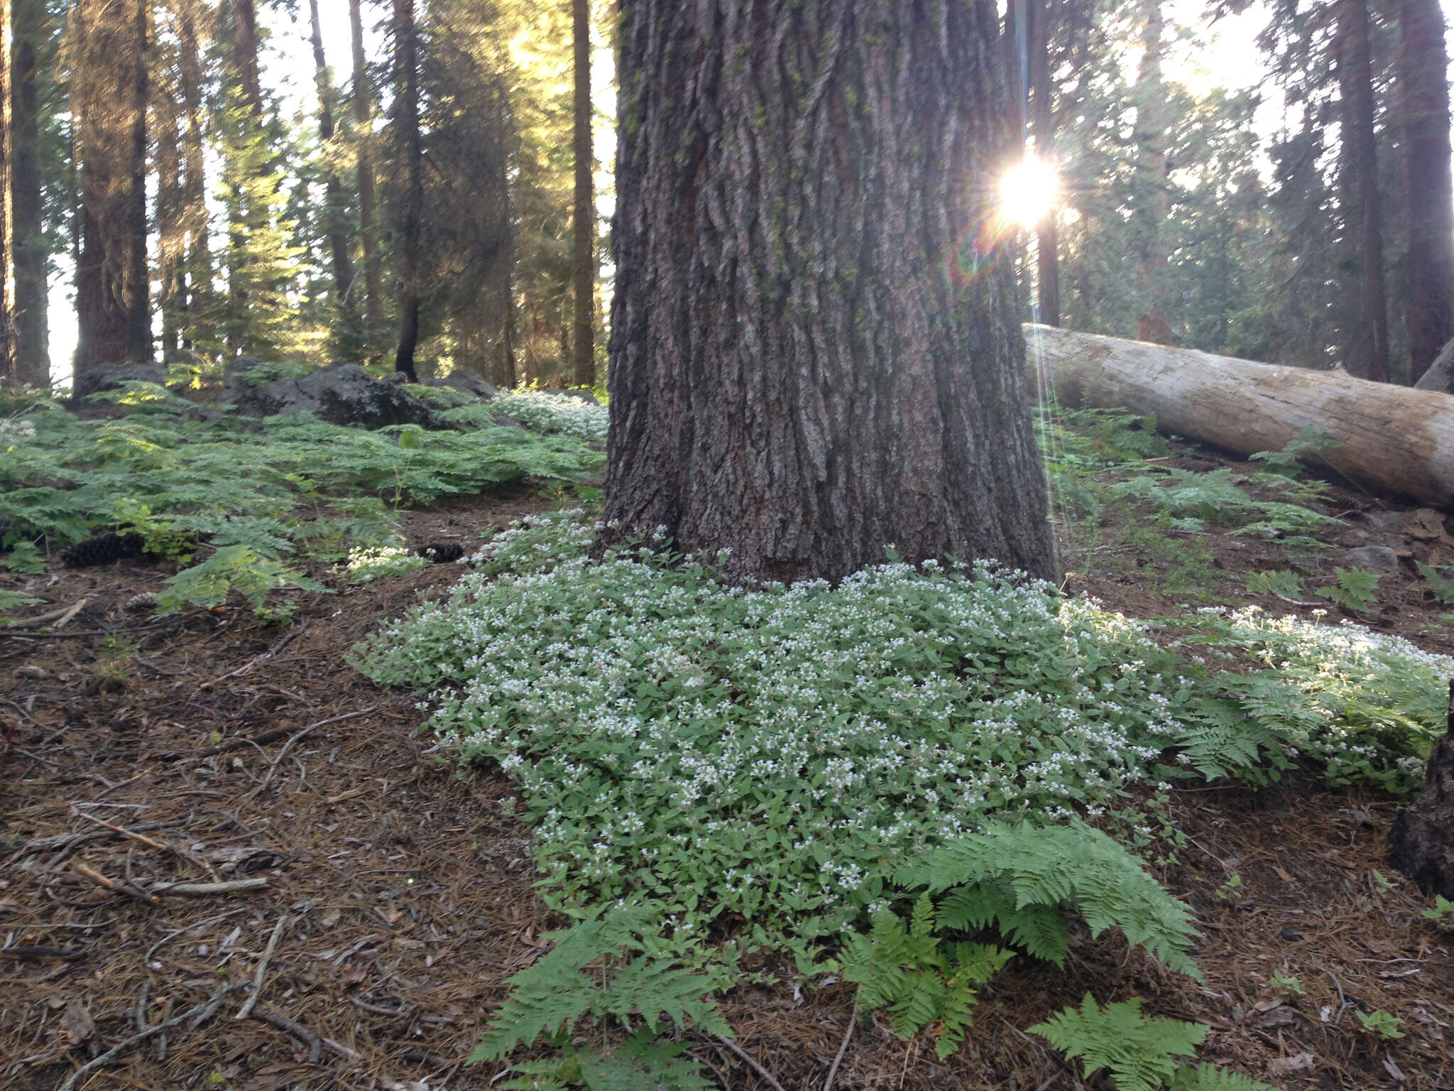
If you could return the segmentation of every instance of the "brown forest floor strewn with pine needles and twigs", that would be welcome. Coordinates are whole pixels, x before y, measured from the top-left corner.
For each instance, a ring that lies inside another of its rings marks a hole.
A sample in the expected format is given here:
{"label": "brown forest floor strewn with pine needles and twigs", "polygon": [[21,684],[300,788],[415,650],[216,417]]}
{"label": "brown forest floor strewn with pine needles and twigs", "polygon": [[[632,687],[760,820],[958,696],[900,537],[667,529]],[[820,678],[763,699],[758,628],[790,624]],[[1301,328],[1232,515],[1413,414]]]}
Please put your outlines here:
{"label": "brown forest floor strewn with pine needles and twigs", "polygon": [[[1240,471],[1185,445],[1163,461]],[[1355,620],[1454,653],[1451,608],[1413,569],[1454,560],[1450,527],[1345,489],[1330,500],[1336,548],[1402,554]],[[406,529],[414,546],[468,544],[550,506],[523,489],[457,497],[409,512]],[[1272,547],[1117,525],[1130,518],[1108,512],[1093,548],[1070,544],[1070,591],[1133,617],[1188,602],[1312,617],[1312,604],[1245,594],[1245,573],[1280,566]],[[0,630],[0,1087],[490,1087],[502,1066],[465,1058],[505,979],[561,919],[535,896],[529,834],[502,806],[510,783],[459,778],[420,733],[417,697],[345,663],[459,569],[298,592],[286,630],[244,610],[128,610],[163,575],[144,560],[52,569],[32,617],[80,610],[64,627]],[[948,1060],[877,1018],[853,1031],[833,1087],[1079,1088],[1077,1068],[1022,1028],[1093,991],[1204,1023],[1202,1059],[1285,1088],[1454,1088],[1454,937],[1419,916],[1425,899],[1383,858],[1397,807],[1312,777],[1176,788],[1186,847],[1159,877],[1195,911],[1202,985],[1082,931],[1064,969],[1012,962]],[[252,889],[151,893],[244,879]],[[1301,995],[1275,994],[1274,973]],[[220,996],[230,982],[241,988]],[[253,1017],[238,1020],[254,982]],[[724,1088],[806,1091],[823,1087],[853,996],[755,985],[721,1010],[736,1049],[692,1055]],[[1375,1010],[1403,1020],[1403,1037],[1362,1030],[1357,1012]],[[118,1044],[113,1063],[83,1071]]]}

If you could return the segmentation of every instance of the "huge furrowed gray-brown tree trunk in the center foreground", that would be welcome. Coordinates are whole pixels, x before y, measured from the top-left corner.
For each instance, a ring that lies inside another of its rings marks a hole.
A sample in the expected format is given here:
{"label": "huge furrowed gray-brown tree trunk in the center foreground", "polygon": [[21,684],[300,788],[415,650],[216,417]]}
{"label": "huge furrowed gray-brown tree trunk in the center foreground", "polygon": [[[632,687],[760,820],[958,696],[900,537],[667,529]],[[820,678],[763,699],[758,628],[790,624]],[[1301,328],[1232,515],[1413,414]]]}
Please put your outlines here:
{"label": "huge furrowed gray-brown tree trunk in the center foreground", "polygon": [[1054,576],[989,3],[622,4],[608,534]]}

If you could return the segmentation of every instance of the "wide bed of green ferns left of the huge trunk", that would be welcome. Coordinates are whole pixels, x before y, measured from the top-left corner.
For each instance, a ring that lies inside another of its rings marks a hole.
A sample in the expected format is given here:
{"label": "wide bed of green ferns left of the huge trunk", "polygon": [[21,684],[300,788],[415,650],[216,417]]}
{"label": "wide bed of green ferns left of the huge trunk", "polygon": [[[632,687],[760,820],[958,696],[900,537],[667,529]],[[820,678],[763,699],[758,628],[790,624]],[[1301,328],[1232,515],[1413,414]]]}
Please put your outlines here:
{"label": "wide bed of green ferns left of the huge trunk", "polygon": [[150,384],[106,397],[125,415],[83,420],[33,397],[3,407],[0,557],[38,570],[45,553],[97,528],[135,531],[150,553],[188,564],[161,596],[173,610],[233,591],[266,610],[275,588],[317,586],[307,562],[348,560],[359,579],[404,570],[400,505],[525,477],[573,480],[602,461],[564,432],[583,412],[603,428],[605,410],[560,396],[534,396],[537,422],[560,417],[550,436],[494,426],[487,406],[452,410],[459,431],[369,432],[307,417],[198,419],[192,403]]}

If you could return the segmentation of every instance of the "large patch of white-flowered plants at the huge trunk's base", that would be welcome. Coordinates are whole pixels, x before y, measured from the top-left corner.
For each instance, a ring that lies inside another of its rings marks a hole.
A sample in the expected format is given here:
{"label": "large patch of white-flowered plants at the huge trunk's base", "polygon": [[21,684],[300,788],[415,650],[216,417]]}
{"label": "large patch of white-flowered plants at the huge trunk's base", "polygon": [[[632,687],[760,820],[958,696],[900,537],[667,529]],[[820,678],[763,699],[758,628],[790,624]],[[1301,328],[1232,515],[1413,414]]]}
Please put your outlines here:
{"label": "large patch of white-flowered plants at the huge trunk's base", "polygon": [[1101,806],[1182,732],[1150,700],[1178,685],[1156,644],[1024,573],[894,563],[744,591],[646,551],[587,563],[593,534],[531,516],[481,553],[497,578],[361,656],[436,688],[461,756],[518,780],[566,896],[711,890],[699,924],[852,915],[868,876],[990,812]]}

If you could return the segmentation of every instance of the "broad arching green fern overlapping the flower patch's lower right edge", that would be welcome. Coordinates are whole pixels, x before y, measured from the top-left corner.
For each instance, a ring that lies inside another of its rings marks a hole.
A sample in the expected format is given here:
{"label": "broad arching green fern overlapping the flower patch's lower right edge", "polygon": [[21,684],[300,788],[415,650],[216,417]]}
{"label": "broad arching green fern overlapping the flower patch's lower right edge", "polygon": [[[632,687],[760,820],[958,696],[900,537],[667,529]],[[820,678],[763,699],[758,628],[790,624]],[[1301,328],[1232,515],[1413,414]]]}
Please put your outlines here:
{"label": "broad arching green fern overlapping the flower patch's lower right edge", "polygon": [[1189,950],[1191,914],[1141,861],[1085,822],[1066,826],[992,825],[901,868],[897,882],[949,892],[939,925],[995,924],[1029,954],[1057,964],[1066,956],[1060,906],[1076,909],[1093,935],[1120,928],[1173,970],[1200,979]]}

